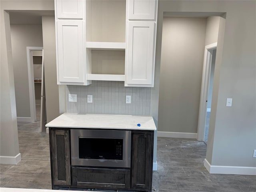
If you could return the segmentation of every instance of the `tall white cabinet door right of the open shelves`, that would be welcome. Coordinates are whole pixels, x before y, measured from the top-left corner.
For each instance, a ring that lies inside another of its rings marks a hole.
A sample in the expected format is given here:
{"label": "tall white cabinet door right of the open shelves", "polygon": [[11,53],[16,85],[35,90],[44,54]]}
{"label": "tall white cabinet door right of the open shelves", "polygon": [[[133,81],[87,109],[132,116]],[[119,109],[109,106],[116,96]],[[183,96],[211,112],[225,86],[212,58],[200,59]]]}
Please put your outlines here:
{"label": "tall white cabinet door right of the open shelves", "polygon": [[126,84],[153,84],[154,31],[154,22],[128,22]]}

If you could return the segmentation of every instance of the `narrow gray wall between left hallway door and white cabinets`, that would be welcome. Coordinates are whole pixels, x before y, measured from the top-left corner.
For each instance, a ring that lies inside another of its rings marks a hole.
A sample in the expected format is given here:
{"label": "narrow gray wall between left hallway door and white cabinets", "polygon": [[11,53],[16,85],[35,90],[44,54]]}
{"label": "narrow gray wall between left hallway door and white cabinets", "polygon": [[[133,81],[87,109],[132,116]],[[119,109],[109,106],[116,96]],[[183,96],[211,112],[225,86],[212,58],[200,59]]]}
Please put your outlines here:
{"label": "narrow gray wall between left hallway door and white cabinets", "polygon": [[[60,115],[59,88],[56,72],[56,45],[54,16],[42,16],[44,43],[44,82],[46,98],[46,120],[50,122]],[[62,93],[65,97],[65,92]]]}

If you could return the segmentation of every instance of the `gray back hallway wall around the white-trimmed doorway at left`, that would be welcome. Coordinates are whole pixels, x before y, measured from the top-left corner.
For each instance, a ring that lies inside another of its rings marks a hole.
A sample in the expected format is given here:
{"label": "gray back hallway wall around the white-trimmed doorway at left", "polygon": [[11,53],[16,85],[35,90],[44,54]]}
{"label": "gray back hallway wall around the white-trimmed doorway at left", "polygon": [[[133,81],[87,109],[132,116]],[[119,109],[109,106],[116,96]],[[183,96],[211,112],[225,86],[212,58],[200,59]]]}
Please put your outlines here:
{"label": "gray back hallway wall around the white-trimmed doorway at left", "polygon": [[42,25],[11,25],[17,117],[30,117],[27,46],[42,47]]}

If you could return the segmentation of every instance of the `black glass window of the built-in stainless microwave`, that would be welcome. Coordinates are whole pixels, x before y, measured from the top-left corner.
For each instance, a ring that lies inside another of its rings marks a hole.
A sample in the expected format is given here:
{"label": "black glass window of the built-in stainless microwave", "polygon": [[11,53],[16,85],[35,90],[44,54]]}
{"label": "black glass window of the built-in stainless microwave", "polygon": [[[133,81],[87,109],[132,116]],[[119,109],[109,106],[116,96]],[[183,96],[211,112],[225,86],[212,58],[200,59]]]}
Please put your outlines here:
{"label": "black glass window of the built-in stainless microwave", "polygon": [[80,159],[123,159],[123,139],[79,137]]}

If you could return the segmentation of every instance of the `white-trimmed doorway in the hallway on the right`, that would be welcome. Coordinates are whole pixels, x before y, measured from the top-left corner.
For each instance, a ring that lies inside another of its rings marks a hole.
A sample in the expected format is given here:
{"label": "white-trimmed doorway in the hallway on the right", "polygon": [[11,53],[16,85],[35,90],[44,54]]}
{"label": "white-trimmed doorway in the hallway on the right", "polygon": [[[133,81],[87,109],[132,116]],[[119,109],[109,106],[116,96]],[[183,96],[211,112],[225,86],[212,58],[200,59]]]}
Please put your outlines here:
{"label": "white-trimmed doorway in the hallway on the right", "polygon": [[200,107],[198,117],[198,141],[204,141],[207,144],[209,124],[210,124],[210,111],[212,104],[212,90],[214,79],[214,68],[216,60],[217,42],[205,46],[204,51],[204,66],[202,74],[202,86],[200,95]]}

